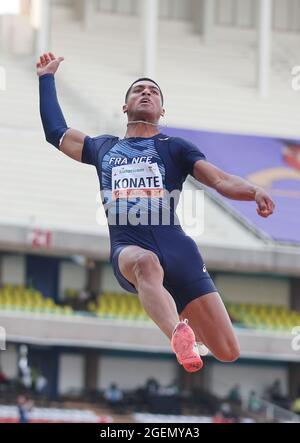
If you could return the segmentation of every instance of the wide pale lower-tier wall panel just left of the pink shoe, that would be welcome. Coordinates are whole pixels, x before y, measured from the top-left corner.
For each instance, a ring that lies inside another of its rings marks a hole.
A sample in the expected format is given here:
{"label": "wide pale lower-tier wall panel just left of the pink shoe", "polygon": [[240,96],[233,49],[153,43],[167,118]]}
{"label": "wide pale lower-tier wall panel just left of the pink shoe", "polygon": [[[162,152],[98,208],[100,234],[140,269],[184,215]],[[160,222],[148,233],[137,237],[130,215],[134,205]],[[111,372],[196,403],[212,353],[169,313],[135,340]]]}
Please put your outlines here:
{"label": "wide pale lower-tier wall panel just left of the pink shoe", "polygon": [[143,386],[148,378],[155,378],[162,386],[174,381],[177,373],[176,361],[155,358],[102,356],[98,366],[99,389],[115,382],[121,389]]}

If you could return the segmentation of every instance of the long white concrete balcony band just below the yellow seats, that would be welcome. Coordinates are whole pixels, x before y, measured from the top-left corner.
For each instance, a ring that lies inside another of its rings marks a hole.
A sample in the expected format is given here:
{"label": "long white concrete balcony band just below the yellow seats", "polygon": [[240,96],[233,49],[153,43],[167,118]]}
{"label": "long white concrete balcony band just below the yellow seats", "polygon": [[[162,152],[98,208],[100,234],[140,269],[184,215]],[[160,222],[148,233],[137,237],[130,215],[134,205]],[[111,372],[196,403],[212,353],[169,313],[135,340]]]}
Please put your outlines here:
{"label": "long white concrete balcony band just below the yellow seats", "polygon": [[[114,349],[121,351],[158,352],[172,355],[170,342],[154,324],[101,320],[94,317],[50,316],[37,313],[0,311],[0,324],[7,332],[7,341],[24,342],[25,338],[36,345],[69,346]],[[241,343],[241,355],[261,360],[299,361],[291,347],[290,334],[278,331],[253,331],[236,329]],[[75,351],[74,351],[75,352]],[[148,363],[146,363],[146,366]],[[161,369],[159,364],[159,370]],[[232,366],[232,365],[231,365]]]}

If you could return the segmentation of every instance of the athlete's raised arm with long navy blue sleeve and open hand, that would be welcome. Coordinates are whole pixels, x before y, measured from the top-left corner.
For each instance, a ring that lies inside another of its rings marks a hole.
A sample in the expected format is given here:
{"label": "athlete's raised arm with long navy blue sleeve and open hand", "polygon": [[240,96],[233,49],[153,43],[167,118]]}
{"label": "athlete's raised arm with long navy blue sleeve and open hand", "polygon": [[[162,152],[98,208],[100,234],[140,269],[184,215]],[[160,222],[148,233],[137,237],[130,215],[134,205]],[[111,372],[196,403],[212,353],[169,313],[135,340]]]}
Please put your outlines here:
{"label": "athlete's raised arm with long navy blue sleeve and open hand", "polygon": [[40,82],[41,119],[46,140],[64,154],[81,162],[86,135],[67,126],[56,94],[54,75],[63,60],[63,57],[56,58],[49,52],[43,54],[36,65]]}

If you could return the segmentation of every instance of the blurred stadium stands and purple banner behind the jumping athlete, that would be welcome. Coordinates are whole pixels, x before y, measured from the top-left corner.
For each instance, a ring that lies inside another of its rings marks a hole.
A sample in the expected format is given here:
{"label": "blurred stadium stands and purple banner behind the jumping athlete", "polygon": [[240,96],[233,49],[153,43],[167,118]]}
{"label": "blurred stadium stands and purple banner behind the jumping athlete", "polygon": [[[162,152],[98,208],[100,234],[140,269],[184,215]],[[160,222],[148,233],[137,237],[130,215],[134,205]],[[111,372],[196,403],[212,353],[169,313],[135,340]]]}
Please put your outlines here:
{"label": "blurred stadium stands and purple banner behind the jumping athlete", "polygon": [[[33,421],[298,420],[299,32],[299,0],[0,0],[0,422],[18,420],[21,395]],[[153,76],[162,132],[273,195],[276,214],[260,220],[254,204],[206,190],[195,238],[239,361],[208,356],[185,373],[118,286],[94,170],[43,137],[46,50],[65,57],[57,88],[71,127],[123,136],[124,94]]]}

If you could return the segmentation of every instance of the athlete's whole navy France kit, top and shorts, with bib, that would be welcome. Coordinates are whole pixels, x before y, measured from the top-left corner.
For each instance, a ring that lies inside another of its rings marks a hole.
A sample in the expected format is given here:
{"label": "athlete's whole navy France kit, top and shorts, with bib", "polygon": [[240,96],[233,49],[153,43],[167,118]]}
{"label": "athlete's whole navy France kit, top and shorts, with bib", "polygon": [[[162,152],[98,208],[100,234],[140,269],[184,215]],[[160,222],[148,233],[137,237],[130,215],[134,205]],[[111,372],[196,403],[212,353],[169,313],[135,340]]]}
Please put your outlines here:
{"label": "athlete's whole navy France kit, top and shorts, with bib", "polygon": [[123,140],[111,135],[86,137],[82,153],[82,162],[97,169],[110,260],[119,284],[136,293],[118,266],[122,249],[134,245],[152,251],[179,314],[195,298],[216,291],[196,243],[176,215],[182,185],[198,160],[205,156],[195,145],[164,134]]}

